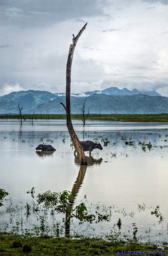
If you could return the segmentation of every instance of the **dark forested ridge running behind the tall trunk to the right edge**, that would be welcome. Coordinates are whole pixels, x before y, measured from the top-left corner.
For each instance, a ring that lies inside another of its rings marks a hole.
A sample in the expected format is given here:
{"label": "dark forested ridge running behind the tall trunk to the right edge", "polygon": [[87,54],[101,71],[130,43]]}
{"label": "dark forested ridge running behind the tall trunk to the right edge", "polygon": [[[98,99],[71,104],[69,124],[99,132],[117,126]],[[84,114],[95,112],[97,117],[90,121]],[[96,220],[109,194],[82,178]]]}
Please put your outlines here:
{"label": "dark forested ridge running behind the tall trunk to the right edge", "polygon": [[[81,107],[85,101],[84,97],[71,96],[71,113],[81,113]],[[49,113],[62,114],[65,109],[60,104],[65,104],[65,96],[60,96],[53,101],[48,101],[31,110],[31,113]],[[168,113],[168,98],[162,96],[148,95],[106,95],[104,93],[94,93],[86,99],[85,113],[89,108],[90,113],[103,114],[158,114]]]}

